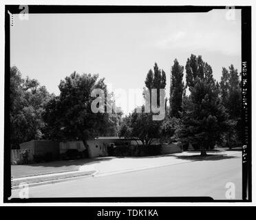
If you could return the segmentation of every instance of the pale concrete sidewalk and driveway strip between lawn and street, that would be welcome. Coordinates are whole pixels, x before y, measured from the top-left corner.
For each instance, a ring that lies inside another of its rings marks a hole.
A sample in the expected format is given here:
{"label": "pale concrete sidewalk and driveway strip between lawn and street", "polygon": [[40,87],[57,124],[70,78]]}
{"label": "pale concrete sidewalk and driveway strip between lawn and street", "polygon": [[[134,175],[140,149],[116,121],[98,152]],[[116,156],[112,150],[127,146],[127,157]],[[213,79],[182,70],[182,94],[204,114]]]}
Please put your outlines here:
{"label": "pale concrete sidewalk and driveway strip between lawn and street", "polygon": [[21,187],[19,184],[36,186],[41,184],[53,184],[54,182],[67,181],[77,177],[113,175],[127,173],[136,170],[145,170],[160,166],[183,164],[199,160],[217,159],[218,157],[232,157],[241,154],[242,151],[208,152],[208,156],[200,157],[200,152],[182,152],[169,155],[157,155],[149,157],[105,157],[96,159],[95,162],[79,166],[77,171],[36,175],[32,177],[20,177],[12,179],[13,188]]}

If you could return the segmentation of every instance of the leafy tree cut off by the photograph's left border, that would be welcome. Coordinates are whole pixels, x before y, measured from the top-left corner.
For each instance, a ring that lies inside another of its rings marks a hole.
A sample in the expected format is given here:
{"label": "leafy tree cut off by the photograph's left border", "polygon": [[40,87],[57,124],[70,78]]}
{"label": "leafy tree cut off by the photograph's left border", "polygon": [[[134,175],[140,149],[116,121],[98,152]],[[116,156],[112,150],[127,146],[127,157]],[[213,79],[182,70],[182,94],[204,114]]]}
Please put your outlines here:
{"label": "leafy tree cut off by the photograph's left border", "polygon": [[22,78],[17,67],[10,67],[10,143],[18,148],[21,142],[44,137],[42,113],[53,96],[35,79]]}

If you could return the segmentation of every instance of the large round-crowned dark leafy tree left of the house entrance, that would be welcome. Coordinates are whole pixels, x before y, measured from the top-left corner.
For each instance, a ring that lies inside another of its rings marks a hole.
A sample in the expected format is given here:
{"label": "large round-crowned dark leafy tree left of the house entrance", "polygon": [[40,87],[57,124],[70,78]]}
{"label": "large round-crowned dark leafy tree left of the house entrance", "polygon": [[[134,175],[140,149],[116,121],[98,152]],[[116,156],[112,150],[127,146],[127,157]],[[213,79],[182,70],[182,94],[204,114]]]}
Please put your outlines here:
{"label": "large round-crowned dark leafy tree left of the house entrance", "polygon": [[104,91],[104,110],[107,108],[107,86],[104,78],[74,72],[61,80],[58,88],[60,95],[50,100],[44,113],[51,139],[82,140],[86,146],[87,140],[106,133],[111,125],[109,113],[94,113],[91,109],[95,99],[91,96],[93,89]]}

